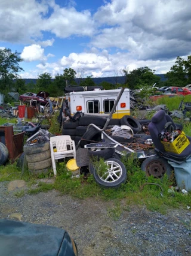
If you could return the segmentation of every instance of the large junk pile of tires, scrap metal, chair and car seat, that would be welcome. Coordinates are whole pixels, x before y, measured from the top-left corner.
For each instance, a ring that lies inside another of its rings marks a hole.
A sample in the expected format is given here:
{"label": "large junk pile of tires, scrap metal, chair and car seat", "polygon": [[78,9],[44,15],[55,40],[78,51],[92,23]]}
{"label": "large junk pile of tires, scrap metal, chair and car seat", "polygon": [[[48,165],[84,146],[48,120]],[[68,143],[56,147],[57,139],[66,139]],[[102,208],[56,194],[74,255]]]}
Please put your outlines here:
{"label": "large junk pile of tires, scrap metal, chair and car seat", "polygon": [[[115,104],[118,104],[117,101]],[[62,135],[57,136],[42,129],[40,123],[26,124],[19,120],[18,127],[29,137],[23,146],[27,168],[36,173],[47,171],[52,166],[56,176],[56,162],[72,158],[66,164],[68,171],[78,175],[89,170],[99,185],[118,188],[127,179],[127,170],[121,158],[133,154],[146,176],[162,178],[167,174],[171,177],[174,169],[178,173],[175,174],[177,185],[189,190],[190,180],[186,180],[189,177],[188,168],[185,167],[187,169],[181,177],[180,169],[189,163],[191,138],[184,134],[181,125],[174,124],[168,110],[158,106],[152,110],[155,115],[151,120],[138,120],[129,115],[112,119],[115,107],[108,118],[83,115],[81,112],[70,116],[67,108],[63,107],[60,115],[63,120]],[[63,114],[65,118],[62,118]],[[16,139],[13,140],[16,143]],[[180,150],[171,151],[166,143]],[[6,155],[2,157],[6,158]],[[100,159],[104,160],[104,165]]]}

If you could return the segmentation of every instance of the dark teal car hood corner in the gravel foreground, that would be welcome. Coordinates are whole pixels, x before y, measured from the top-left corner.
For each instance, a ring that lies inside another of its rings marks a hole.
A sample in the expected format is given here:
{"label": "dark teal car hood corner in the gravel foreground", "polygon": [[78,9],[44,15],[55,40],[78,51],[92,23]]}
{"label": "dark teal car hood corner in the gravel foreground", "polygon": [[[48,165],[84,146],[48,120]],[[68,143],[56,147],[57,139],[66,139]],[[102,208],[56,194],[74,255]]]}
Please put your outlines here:
{"label": "dark teal car hood corner in the gravel foreground", "polygon": [[77,256],[76,243],[62,228],[0,219],[0,255]]}

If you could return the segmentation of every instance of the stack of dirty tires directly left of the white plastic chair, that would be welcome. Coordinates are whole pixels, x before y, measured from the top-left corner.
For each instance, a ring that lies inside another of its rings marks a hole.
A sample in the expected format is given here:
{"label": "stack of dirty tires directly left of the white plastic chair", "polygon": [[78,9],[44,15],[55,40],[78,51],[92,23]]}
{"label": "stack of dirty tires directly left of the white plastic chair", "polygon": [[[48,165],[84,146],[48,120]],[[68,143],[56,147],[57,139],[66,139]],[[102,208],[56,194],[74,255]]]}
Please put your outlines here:
{"label": "stack of dirty tires directly left of the white plastic chair", "polygon": [[25,144],[23,151],[26,155],[27,166],[30,171],[44,171],[51,167],[50,142],[45,141],[38,144]]}

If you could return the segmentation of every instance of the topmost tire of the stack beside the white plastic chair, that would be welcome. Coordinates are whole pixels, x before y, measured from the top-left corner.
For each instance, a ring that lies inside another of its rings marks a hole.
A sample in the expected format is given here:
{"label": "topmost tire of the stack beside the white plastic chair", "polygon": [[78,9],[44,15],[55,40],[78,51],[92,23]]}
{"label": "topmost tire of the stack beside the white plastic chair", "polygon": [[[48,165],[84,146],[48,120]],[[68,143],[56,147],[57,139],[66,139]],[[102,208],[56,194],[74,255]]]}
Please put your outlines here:
{"label": "topmost tire of the stack beside the white plastic chair", "polygon": [[45,141],[45,142],[38,143],[38,144],[30,144],[30,145],[25,144],[23,146],[23,151],[24,151],[24,153],[26,153],[26,155],[33,155],[35,153],[41,153],[41,152],[47,151],[48,149],[50,149],[49,141]]}

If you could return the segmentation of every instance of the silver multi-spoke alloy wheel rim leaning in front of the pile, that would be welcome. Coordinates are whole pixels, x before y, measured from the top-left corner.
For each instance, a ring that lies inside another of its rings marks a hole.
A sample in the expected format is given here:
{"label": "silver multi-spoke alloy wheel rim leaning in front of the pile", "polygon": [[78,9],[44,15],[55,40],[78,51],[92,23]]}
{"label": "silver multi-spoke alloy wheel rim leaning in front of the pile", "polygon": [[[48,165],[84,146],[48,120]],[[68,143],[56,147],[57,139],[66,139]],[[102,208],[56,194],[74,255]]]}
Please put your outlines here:
{"label": "silver multi-spoke alloy wheel rim leaning in front of the pile", "polygon": [[104,174],[99,174],[97,171],[98,177],[107,183],[116,182],[122,176],[122,168],[118,162],[115,161],[106,161],[107,163],[107,171]]}

